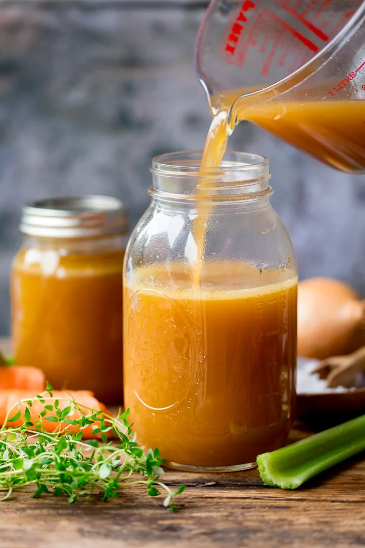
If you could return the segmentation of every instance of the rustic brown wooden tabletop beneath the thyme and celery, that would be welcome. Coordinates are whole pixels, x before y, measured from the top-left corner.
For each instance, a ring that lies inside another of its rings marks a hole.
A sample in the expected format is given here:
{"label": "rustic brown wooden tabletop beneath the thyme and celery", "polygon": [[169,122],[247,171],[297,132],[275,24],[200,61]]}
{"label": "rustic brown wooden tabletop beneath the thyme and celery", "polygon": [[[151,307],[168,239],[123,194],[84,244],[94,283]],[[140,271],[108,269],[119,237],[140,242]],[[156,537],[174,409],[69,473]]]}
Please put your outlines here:
{"label": "rustic brown wooden tabletop beneath the thyme and celery", "polygon": [[[309,434],[298,426],[291,441]],[[365,546],[363,455],[294,491],[263,486],[256,470],[166,472],[165,481],[187,485],[176,513],[139,486],[118,500],[95,495],[72,505],[16,493],[0,506],[0,548]]]}

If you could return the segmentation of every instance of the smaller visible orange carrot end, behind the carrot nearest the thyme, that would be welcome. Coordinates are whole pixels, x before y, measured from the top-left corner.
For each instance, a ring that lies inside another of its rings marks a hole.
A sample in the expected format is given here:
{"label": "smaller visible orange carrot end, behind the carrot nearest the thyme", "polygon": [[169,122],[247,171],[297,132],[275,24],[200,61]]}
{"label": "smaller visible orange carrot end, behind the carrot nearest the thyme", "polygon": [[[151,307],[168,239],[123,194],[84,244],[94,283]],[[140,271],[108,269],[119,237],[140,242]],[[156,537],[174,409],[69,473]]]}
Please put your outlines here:
{"label": "smaller visible orange carrot end, behind the carrot nearest the thyme", "polygon": [[37,367],[0,367],[0,390],[35,390],[40,393],[44,389],[45,376]]}

